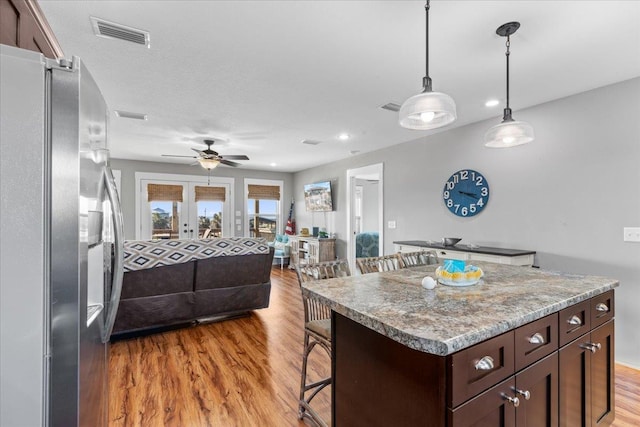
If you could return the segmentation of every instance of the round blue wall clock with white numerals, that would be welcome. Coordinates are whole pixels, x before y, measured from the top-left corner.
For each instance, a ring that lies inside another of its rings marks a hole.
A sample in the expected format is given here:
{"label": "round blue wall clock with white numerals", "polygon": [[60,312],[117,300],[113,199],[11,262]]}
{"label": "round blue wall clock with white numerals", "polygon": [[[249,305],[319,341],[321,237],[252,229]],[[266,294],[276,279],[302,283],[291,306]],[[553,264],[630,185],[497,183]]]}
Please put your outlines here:
{"label": "round blue wall clock with white numerals", "polygon": [[478,215],[489,201],[489,183],[480,172],[461,169],[445,182],[442,200],[454,215]]}

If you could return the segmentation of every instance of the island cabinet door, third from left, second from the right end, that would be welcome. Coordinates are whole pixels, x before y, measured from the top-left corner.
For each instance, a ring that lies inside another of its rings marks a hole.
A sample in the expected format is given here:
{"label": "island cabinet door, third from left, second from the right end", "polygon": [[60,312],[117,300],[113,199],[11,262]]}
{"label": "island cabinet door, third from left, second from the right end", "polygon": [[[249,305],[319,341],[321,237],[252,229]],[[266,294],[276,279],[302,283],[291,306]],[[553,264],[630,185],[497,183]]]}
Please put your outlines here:
{"label": "island cabinet door, third from left, second from the right end", "polygon": [[583,347],[589,334],[563,347],[559,351],[560,386],[559,416],[561,427],[590,426],[591,382],[590,351]]}

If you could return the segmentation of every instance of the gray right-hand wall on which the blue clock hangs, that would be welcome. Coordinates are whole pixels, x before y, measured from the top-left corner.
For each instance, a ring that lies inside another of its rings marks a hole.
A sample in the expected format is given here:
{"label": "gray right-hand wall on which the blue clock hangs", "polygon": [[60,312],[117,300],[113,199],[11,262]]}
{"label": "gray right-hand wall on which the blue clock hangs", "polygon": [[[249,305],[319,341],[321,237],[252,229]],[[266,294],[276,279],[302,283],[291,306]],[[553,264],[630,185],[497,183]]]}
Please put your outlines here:
{"label": "gray right-hand wall on which the blue clock hangs", "polygon": [[[397,222],[385,229],[385,253],[394,240],[456,236],[536,250],[544,269],[616,278],[616,359],[640,367],[640,243],[622,237],[623,227],[640,227],[640,78],[516,110],[536,140],[487,149],[484,133],[500,115],[294,174],[297,201],[303,184],[331,179],[336,209],[318,218],[296,203],[298,223],[324,221],[346,257],[346,171],[382,162],[384,224]],[[481,172],[491,189],[472,218],[453,216],[441,198],[446,179],[464,168]]]}

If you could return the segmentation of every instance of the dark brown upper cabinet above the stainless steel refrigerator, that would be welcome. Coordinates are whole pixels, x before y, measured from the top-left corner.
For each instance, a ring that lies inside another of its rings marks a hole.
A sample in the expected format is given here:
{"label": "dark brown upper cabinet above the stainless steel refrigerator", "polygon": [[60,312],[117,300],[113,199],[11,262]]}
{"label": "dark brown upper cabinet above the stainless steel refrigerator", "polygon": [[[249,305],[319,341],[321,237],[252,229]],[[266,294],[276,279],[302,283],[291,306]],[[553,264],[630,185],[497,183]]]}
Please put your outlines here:
{"label": "dark brown upper cabinet above the stainless steel refrigerator", "polygon": [[35,0],[0,0],[0,43],[40,52],[48,58],[62,56]]}

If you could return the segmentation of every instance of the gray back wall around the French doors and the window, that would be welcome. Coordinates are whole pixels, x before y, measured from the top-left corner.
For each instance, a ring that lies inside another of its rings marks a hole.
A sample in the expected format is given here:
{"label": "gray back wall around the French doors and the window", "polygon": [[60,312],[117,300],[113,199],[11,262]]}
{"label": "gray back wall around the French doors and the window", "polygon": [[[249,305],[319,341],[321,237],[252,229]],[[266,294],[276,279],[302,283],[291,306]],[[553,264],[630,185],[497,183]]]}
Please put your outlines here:
{"label": "gray back wall around the French doors and the window", "polygon": [[[170,174],[180,174],[180,175],[203,175],[207,176],[207,171],[202,169],[200,166],[189,166],[189,165],[177,165],[177,164],[169,164],[169,163],[155,163],[155,162],[142,162],[136,160],[122,160],[122,159],[112,159],[111,167],[113,169],[119,169],[122,172],[121,177],[121,186],[122,186],[122,194],[120,198],[122,199],[122,214],[124,217],[124,228],[125,228],[125,236],[127,239],[135,238],[135,220],[136,220],[136,195],[135,195],[135,173],[136,172],[155,172],[155,173],[170,173]],[[212,176],[221,176],[228,178],[235,178],[234,184],[234,203],[235,206],[232,207],[232,211],[240,211],[242,212],[242,231],[237,231],[234,226],[234,233],[236,236],[244,236],[244,215],[246,209],[243,205],[244,203],[244,179],[245,178],[256,178],[256,179],[278,179],[284,182],[283,185],[283,204],[282,214],[283,225],[287,224],[287,215],[289,214],[289,203],[291,201],[291,189],[292,189],[292,181],[293,176],[290,173],[282,173],[282,172],[268,172],[268,171],[257,171],[251,169],[234,169],[227,167],[219,167],[212,171]],[[234,218],[235,213],[234,213]],[[280,230],[282,231],[282,230]]]}

